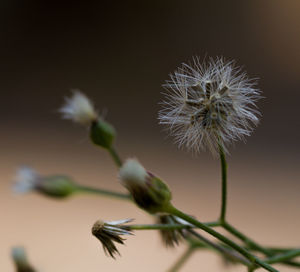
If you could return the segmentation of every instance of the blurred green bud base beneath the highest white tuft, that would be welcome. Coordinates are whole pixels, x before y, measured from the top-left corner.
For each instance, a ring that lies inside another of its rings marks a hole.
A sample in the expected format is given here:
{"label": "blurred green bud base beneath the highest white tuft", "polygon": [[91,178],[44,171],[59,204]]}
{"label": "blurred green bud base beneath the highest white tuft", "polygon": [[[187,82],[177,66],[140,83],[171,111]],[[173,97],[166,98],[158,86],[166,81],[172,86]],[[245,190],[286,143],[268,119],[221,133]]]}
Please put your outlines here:
{"label": "blurred green bud base beneath the highest white tuft", "polygon": [[116,136],[116,131],[111,124],[101,118],[92,122],[90,138],[95,145],[110,149]]}

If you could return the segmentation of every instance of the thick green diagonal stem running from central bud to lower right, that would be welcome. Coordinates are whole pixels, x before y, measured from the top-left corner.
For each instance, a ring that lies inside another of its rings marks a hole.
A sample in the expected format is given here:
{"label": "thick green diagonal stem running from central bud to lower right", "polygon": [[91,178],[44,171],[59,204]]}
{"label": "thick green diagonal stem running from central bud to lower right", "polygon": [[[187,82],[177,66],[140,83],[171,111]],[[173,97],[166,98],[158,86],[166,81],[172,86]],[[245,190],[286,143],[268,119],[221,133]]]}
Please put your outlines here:
{"label": "thick green diagonal stem running from central bud to lower right", "polygon": [[249,251],[247,251],[246,249],[242,248],[241,246],[239,246],[235,242],[231,241],[230,239],[228,239],[227,237],[225,237],[221,233],[216,232],[215,230],[213,230],[212,228],[210,228],[210,227],[206,226],[205,224],[199,222],[195,218],[193,218],[193,217],[191,217],[191,216],[189,216],[189,215],[181,212],[180,210],[176,209],[171,204],[168,207],[165,207],[164,211],[168,212],[168,213],[170,213],[172,215],[178,216],[179,218],[181,218],[181,219],[183,219],[183,220],[185,220],[185,221],[187,221],[187,222],[189,222],[189,223],[197,226],[198,228],[206,231],[207,233],[209,233],[212,236],[214,236],[215,238],[217,238],[219,241],[222,241],[226,245],[230,246],[231,248],[233,248],[234,250],[236,250],[237,252],[239,252],[241,255],[243,255],[244,257],[246,257],[251,263],[259,265],[259,266],[265,268],[268,271],[278,272],[278,270],[276,270],[272,266],[268,265],[267,263],[263,262],[262,260],[260,260],[256,256],[252,255]]}

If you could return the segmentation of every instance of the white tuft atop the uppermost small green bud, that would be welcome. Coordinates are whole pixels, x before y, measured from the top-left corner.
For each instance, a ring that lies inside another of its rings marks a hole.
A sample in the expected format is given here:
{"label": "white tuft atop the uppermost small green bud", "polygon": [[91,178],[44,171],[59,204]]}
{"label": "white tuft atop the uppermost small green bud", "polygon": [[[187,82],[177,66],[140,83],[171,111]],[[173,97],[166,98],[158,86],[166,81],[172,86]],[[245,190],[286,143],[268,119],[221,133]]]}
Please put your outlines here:
{"label": "white tuft atop the uppermost small green bud", "polygon": [[79,90],[73,90],[73,96],[66,97],[65,101],[65,105],[59,109],[63,118],[71,119],[82,125],[88,125],[97,119],[98,114],[93,103]]}

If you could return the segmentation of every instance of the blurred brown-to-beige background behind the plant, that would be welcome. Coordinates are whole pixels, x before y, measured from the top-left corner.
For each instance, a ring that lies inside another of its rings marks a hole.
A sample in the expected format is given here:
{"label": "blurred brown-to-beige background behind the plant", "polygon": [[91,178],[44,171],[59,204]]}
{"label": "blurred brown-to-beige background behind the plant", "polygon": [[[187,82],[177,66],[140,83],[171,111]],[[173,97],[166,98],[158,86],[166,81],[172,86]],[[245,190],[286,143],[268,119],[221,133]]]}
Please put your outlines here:
{"label": "blurred brown-to-beige background behind the plant", "polygon": [[[174,203],[202,221],[220,206],[219,161],[177,150],[157,122],[168,74],[192,56],[236,60],[259,78],[262,119],[247,144],[230,148],[228,218],[268,245],[300,245],[300,1],[2,1],[0,264],[10,248],[51,271],[166,271],[184,247],[164,249],[137,232],[105,257],[90,234],[99,218],[152,219],[130,203],[81,195],[55,201],[11,190],[20,165],[123,191],[108,154],[57,109],[73,88],[93,99],[136,156],[172,188]],[[245,271],[197,252],[182,271]],[[280,271],[295,271],[280,268]]]}

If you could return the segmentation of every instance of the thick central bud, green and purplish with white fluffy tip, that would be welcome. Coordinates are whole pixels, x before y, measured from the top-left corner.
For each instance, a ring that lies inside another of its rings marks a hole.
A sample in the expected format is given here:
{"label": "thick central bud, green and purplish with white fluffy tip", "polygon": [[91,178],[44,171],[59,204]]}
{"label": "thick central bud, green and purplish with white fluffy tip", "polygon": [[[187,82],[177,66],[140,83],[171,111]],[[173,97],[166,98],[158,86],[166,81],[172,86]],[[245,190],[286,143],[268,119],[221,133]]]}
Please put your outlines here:
{"label": "thick central bud, green and purplish with white fluffy tip", "polygon": [[147,172],[135,159],[128,159],[120,169],[121,183],[135,203],[149,213],[163,212],[172,198],[167,185]]}

